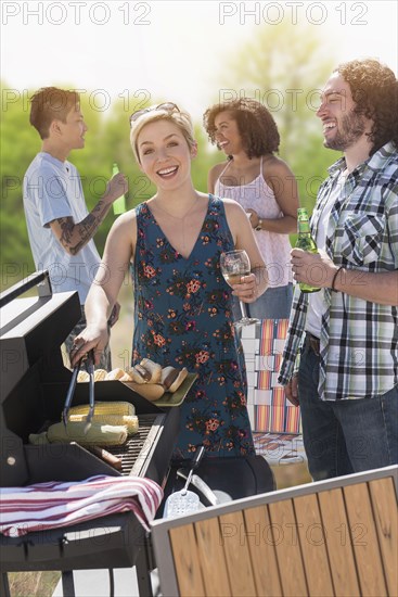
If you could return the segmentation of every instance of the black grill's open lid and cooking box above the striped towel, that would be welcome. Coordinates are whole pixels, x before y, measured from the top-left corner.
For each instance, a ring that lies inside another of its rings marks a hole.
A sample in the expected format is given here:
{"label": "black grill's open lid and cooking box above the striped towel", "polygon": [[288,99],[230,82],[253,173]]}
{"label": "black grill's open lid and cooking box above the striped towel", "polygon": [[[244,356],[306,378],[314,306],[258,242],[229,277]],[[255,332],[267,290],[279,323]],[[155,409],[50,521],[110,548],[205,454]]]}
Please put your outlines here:
{"label": "black grill's open lid and cooking box above the striped towel", "polygon": [[[35,284],[38,296],[20,297]],[[54,444],[47,447],[28,444],[29,433],[60,421],[72,378],[72,371],[63,364],[61,345],[80,318],[77,292],[52,295],[47,272],[39,272],[10,289],[0,301],[1,363],[5,369],[0,394],[0,484],[23,486],[47,480],[120,474],[76,444],[64,444],[62,458],[55,455],[59,447]],[[145,450],[139,450],[140,470],[136,466],[133,474],[149,475],[162,483],[178,433],[178,409],[166,409],[164,414],[119,381],[97,382],[95,399],[130,402],[141,419],[143,415],[154,415],[151,442],[143,446]],[[88,402],[88,384],[78,383],[73,405]]]}

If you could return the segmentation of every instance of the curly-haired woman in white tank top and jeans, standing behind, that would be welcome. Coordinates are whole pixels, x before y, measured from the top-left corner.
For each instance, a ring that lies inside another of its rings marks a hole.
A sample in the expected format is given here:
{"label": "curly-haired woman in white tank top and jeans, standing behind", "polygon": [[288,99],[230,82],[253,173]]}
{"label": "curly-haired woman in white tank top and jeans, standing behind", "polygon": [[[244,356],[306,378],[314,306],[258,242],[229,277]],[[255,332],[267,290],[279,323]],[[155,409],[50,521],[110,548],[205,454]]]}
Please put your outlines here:
{"label": "curly-haired woman in white tank top and jeans, standing behind", "polygon": [[262,104],[240,99],[209,107],[204,126],[210,141],[228,155],[210,169],[208,191],[234,199],[251,214],[267,264],[269,288],[246,306],[248,315],[286,318],[293,298],[288,234],[296,231],[299,203],[294,174],[273,155],[280,142],[277,124]]}

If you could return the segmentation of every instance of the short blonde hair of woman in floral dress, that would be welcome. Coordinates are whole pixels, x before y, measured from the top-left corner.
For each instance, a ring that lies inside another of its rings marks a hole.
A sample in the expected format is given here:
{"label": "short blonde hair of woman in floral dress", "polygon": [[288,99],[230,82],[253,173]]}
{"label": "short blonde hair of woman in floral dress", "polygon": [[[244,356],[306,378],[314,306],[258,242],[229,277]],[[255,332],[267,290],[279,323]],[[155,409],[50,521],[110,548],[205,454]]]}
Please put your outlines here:
{"label": "short blonde hair of woman in floral dress", "polygon": [[193,132],[193,125],[191,116],[188,114],[188,112],[180,112],[179,110],[169,111],[166,109],[152,109],[147,112],[143,113],[141,116],[137,118],[137,120],[132,120],[130,123],[131,130],[130,130],[130,143],[132,153],[134,154],[134,157],[139,164],[141,164],[140,155],[138,151],[138,137],[141,132],[141,130],[144,128],[144,126],[149,125],[150,123],[156,123],[157,120],[168,120],[169,123],[172,123],[176,125],[180,131],[182,132],[188,147],[194,148],[196,147],[196,141],[194,139],[194,132]]}

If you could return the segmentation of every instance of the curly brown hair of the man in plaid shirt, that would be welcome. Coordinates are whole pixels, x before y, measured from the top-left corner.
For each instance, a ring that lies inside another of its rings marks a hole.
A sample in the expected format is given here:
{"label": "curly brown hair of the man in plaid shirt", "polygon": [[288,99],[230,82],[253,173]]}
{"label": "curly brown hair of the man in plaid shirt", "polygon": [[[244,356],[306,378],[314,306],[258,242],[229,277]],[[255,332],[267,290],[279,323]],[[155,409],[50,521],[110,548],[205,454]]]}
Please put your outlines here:
{"label": "curly brown hair of the man in plaid shirt", "polygon": [[355,112],[373,120],[371,155],[388,141],[398,149],[398,81],[393,71],[377,60],[365,59],[345,62],[335,72],[350,87]]}

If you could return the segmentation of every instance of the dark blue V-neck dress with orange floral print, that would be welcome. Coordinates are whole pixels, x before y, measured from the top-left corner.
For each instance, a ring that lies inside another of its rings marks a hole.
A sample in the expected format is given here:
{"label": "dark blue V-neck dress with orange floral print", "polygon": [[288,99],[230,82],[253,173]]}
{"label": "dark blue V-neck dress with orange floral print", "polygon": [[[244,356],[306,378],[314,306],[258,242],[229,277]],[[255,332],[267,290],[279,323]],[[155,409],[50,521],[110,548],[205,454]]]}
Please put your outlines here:
{"label": "dark blue V-neck dress with orange floral print", "polygon": [[171,246],[146,202],[136,213],[132,363],[151,358],[198,374],[179,407],[174,458],[191,458],[201,444],[208,456],[253,455],[243,350],[219,267],[220,254],[234,249],[222,201],[209,195],[188,258]]}

